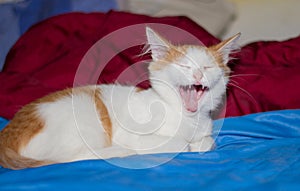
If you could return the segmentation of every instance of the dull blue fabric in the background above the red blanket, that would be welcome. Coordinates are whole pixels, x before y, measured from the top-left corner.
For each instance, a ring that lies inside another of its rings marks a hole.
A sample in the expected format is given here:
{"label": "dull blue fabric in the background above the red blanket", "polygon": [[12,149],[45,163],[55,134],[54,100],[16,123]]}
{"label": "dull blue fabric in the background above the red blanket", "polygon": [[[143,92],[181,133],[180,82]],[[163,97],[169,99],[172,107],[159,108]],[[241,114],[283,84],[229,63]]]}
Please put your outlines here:
{"label": "dull blue fabric in the background above the red blanket", "polygon": [[0,4],[0,71],[11,46],[33,24],[71,11],[107,12],[116,8],[115,0],[20,0]]}

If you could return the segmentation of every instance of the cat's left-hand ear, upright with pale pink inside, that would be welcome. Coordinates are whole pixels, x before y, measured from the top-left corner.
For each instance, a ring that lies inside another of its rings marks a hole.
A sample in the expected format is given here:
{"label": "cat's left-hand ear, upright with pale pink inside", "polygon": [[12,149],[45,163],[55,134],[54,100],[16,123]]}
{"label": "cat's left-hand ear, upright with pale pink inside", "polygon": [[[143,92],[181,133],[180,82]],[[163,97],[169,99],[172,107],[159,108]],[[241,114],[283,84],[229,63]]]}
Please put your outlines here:
{"label": "cat's left-hand ear, upright with pale pink inside", "polygon": [[164,58],[171,44],[149,27],[146,27],[146,35],[152,59],[157,61]]}

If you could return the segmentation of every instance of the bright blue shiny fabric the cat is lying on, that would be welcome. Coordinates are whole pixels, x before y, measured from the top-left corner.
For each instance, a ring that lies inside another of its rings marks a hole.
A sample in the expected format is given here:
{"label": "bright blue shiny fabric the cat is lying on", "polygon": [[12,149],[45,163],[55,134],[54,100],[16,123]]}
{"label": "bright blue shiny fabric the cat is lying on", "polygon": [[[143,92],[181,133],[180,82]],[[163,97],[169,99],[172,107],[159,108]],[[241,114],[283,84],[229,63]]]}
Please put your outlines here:
{"label": "bright blue shiny fabric the cat is lying on", "polygon": [[[219,131],[220,130],[220,131]],[[172,154],[88,160],[19,171],[0,168],[0,190],[299,190],[300,110],[215,121],[217,147]]]}

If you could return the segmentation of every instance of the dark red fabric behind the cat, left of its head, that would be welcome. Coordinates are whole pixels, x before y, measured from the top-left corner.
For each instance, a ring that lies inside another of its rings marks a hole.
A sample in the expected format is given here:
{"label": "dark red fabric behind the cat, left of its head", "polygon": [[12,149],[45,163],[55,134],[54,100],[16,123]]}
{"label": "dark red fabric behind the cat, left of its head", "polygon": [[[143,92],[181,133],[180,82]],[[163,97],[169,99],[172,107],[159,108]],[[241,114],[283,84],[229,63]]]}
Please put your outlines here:
{"label": "dark red fabric behind the cat, left of its head", "polygon": [[[50,92],[72,87],[79,63],[89,48],[117,29],[142,23],[176,26],[206,45],[219,41],[185,17],[152,18],[111,11],[107,14],[69,13],[50,18],[29,29],[9,52],[0,73],[0,116],[11,119],[23,105]],[[182,36],[173,38],[178,40]],[[110,42],[111,48],[126,40],[115,39]],[[122,70],[137,61],[136,55],[140,53],[141,47],[132,47],[115,56],[101,73],[99,82],[114,81]],[[76,85],[94,82],[94,65],[91,61],[85,66],[85,71],[76,76],[79,76]]]}

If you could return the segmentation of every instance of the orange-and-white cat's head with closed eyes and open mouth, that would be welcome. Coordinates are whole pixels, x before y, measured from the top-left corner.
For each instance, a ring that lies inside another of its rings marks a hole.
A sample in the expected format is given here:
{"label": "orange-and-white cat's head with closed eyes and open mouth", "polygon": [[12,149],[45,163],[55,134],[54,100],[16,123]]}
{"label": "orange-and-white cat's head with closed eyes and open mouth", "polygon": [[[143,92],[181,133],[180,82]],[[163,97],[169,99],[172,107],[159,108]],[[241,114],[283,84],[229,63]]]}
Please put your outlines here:
{"label": "orange-and-white cat's head with closed eyes and open mouth", "polygon": [[227,62],[238,47],[240,34],[211,47],[176,46],[150,28],[146,28],[146,35],[153,59],[149,65],[152,87],[171,101],[178,95],[187,112],[207,105],[208,110],[214,109],[226,90],[230,73]]}

